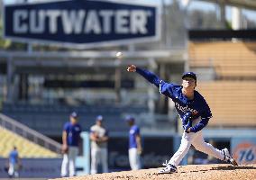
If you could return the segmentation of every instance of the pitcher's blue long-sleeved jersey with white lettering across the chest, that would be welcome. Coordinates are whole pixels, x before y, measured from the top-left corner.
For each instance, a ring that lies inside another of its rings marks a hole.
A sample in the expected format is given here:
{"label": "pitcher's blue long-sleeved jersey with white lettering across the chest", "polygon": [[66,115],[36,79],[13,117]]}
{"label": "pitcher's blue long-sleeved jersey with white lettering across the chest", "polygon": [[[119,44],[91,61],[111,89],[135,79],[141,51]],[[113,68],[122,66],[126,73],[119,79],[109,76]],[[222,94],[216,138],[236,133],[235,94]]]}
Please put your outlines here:
{"label": "pitcher's blue long-sleeved jersey with white lettering across the chest", "polygon": [[144,76],[152,84],[159,87],[161,94],[165,94],[172,99],[172,101],[175,103],[176,110],[180,117],[183,117],[186,112],[192,112],[193,120],[201,116],[202,121],[194,126],[191,131],[197,132],[199,130],[202,130],[206,126],[207,122],[212,117],[212,112],[204,97],[196,90],[194,92],[194,99],[189,100],[187,99],[186,95],[182,94],[181,85],[166,83],[163,80],[160,80],[158,76],[155,76],[150,71],[139,67],[136,68],[136,72]]}

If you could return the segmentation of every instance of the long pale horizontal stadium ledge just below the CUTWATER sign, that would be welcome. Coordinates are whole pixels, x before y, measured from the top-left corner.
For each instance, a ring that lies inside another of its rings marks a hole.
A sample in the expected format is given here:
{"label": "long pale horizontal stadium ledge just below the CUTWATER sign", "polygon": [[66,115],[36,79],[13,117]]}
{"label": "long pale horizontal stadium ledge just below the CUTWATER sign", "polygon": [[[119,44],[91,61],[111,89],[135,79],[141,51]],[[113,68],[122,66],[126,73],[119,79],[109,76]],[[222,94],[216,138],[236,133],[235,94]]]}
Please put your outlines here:
{"label": "long pale horizontal stadium ledge just below the CUTWATER sign", "polygon": [[62,72],[67,71],[67,68],[76,68],[76,71],[72,72],[79,73],[85,72],[85,68],[91,67],[118,67],[121,64],[122,66],[130,64],[148,66],[154,60],[179,64],[184,63],[187,59],[185,49],[123,51],[124,57],[120,62],[115,58],[115,53],[116,50],[32,51],[29,53],[0,50],[0,63],[13,65],[16,73],[41,74],[48,73],[50,68],[56,68],[56,71]]}

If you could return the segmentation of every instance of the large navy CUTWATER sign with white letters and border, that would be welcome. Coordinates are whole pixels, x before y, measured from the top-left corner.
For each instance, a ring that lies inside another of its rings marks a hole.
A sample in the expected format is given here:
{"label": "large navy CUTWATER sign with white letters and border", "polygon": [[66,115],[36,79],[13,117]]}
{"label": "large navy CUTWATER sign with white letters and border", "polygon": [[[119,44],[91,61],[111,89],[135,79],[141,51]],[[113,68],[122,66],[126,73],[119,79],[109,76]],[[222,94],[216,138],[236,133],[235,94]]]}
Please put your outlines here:
{"label": "large navy CUTWATER sign with white letters and border", "polygon": [[5,5],[5,38],[75,48],[159,40],[156,4],[73,0]]}

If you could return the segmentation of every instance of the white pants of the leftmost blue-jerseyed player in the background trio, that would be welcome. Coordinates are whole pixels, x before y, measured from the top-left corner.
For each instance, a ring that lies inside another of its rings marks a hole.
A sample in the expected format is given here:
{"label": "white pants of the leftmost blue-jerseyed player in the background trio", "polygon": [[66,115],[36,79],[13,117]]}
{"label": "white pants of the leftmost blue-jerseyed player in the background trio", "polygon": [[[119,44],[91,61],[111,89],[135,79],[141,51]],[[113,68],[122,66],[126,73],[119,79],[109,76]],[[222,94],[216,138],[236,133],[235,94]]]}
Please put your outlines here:
{"label": "white pants of the leftmost blue-jerseyed player in the background trio", "polygon": [[69,164],[69,176],[76,175],[76,158],[78,157],[78,147],[69,147],[69,152],[63,155],[61,165],[61,176],[68,175],[68,164]]}

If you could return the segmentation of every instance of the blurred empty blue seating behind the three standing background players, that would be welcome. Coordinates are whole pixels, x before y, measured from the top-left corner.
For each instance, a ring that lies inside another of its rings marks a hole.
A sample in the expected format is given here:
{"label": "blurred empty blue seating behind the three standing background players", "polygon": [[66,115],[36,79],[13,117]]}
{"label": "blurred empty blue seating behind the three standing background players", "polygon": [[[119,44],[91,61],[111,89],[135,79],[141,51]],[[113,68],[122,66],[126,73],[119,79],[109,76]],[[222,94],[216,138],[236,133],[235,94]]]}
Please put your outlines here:
{"label": "blurred empty blue seating behind the three standing background players", "polygon": [[48,136],[59,136],[63,125],[69,121],[69,114],[76,111],[83,130],[89,130],[95,123],[96,116],[101,114],[105,118],[105,127],[110,131],[127,131],[127,124],[123,121],[125,114],[140,114],[147,112],[145,106],[118,105],[81,105],[69,106],[60,104],[29,104],[4,103],[3,113]]}

